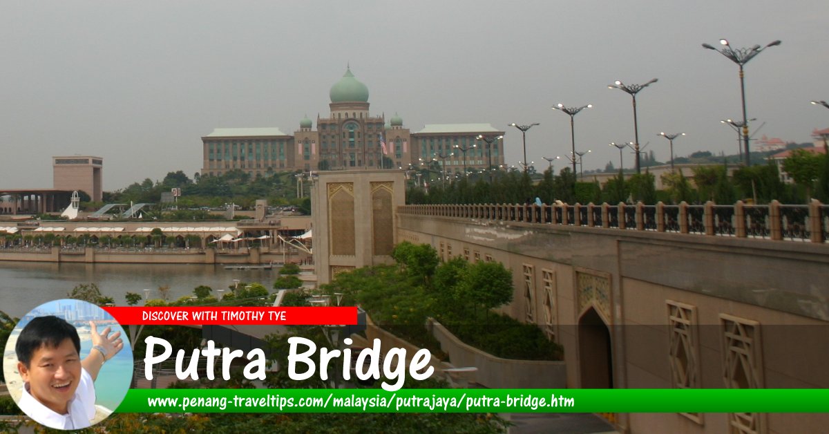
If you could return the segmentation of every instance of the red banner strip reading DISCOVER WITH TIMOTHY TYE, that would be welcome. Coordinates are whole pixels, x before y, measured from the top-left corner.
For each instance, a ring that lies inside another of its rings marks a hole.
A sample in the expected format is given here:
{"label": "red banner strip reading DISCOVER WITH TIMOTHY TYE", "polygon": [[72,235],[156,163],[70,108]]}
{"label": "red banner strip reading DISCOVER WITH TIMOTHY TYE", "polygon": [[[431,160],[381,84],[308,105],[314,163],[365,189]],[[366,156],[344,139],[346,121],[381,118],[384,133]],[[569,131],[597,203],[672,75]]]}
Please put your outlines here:
{"label": "red banner strip reading DISCOVER WITH TIMOTHY TYE", "polygon": [[357,308],[349,307],[104,307],[119,324],[166,325],[353,325]]}

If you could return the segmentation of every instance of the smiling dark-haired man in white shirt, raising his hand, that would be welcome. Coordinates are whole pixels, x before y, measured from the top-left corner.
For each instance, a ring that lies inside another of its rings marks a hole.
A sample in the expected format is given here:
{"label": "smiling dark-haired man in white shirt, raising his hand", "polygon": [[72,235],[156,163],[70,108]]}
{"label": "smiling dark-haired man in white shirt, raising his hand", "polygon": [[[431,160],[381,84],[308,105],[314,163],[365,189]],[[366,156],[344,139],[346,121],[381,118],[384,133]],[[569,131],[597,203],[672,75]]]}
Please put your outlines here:
{"label": "smiling dark-haired man in white shirt, raising his hand", "polygon": [[17,405],[46,427],[69,430],[90,426],[95,417],[95,385],[104,362],[124,342],[107,327],[98,334],[90,322],[92,350],[80,360],[80,337],[72,324],[56,316],[32,319],[20,332],[15,350],[24,387]]}

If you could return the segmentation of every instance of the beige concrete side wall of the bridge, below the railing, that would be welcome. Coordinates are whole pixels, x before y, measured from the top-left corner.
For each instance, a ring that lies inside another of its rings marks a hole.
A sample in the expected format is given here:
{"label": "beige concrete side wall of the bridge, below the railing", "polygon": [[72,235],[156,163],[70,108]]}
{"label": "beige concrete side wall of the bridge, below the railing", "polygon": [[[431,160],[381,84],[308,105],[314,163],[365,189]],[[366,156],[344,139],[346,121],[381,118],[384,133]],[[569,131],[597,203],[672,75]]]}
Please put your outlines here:
{"label": "beige concrete side wall of the bridge, below the railing", "polygon": [[[515,293],[502,311],[538,324],[565,348],[569,387],[580,387],[583,374],[590,374],[589,357],[579,354],[579,320],[590,310],[608,329],[614,388],[675,387],[668,303],[694,312],[696,387],[726,387],[723,324],[730,317],[755,324],[750,341],[758,387],[829,387],[829,372],[820,368],[829,359],[825,244],[493,222],[405,209],[396,227],[399,241],[429,243],[444,259],[451,250],[451,256],[500,261],[511,269]],[[551,319],[548,290],[554,294]],[[697,416],[622,414],[617,427],[728,431],[727,414]],[[761,431],[768,432],[819,432],[829,422],[827,415],[762,419]]]}

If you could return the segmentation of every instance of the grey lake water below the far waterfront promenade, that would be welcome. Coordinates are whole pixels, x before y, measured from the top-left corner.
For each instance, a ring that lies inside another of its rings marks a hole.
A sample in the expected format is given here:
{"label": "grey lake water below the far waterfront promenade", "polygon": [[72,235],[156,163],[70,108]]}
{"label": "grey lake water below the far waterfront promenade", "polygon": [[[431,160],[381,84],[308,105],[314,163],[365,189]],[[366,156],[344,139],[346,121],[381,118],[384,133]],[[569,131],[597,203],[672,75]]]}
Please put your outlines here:
{"label": "grey lake water below the far waterfront promenade", "polygon": [[158,287],[170,287],[169,300],[193,295],[198,285],[216,290],[228,288],[234,279],[258,282],[272,288],[278,270],[225,270],[221,265],[192,264],[58,264],[51,262],[0,261],[0,310],[20,318],[47,301],[64,299],[75,285],[95,283],[119,306],[124,295],[134,292],[160,298]]}

